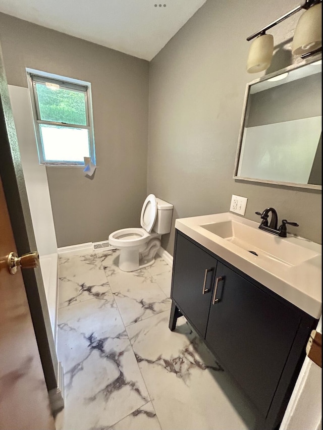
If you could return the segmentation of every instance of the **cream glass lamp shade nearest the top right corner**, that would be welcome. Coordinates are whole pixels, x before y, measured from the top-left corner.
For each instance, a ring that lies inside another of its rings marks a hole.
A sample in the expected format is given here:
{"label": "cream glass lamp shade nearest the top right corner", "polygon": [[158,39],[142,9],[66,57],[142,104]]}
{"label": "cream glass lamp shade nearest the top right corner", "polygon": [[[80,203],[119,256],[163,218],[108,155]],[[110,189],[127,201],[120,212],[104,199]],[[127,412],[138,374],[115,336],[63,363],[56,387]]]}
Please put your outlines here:
{"label": "cream glass lamp shade nearest the top right corner", "polygon": [[293,55],[302,55],[322,46],[322,4],[312,6],[298,20],[292,45]]}

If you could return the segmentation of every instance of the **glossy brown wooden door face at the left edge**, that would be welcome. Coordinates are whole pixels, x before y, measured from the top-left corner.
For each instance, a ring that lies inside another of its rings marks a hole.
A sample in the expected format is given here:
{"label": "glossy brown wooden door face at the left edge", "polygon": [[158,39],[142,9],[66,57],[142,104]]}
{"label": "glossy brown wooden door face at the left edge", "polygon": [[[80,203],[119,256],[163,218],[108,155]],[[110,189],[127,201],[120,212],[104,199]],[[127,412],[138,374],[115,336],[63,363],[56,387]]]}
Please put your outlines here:
{"label": "glossy brown wooden door face at the left edge", "polygon": [[53,430],[23,278],[20,268],[11,275],[7,266],[12,251],[17,252],[0,179],[0,429]]}

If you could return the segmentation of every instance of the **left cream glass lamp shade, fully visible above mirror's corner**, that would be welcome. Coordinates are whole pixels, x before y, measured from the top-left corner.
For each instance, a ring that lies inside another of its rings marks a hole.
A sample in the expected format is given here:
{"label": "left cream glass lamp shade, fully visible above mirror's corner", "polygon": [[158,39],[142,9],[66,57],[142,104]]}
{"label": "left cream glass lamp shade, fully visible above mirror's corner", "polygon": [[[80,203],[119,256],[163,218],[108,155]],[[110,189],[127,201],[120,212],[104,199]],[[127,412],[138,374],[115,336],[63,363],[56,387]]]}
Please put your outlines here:
{"label": "left cream glass lamp shade, fully visible above mirror's corner", "polygon": [[257,73],[268,69],[271,65],[274,52],[274,37],[272,34],[262,34],[251,43],[247,72]]}

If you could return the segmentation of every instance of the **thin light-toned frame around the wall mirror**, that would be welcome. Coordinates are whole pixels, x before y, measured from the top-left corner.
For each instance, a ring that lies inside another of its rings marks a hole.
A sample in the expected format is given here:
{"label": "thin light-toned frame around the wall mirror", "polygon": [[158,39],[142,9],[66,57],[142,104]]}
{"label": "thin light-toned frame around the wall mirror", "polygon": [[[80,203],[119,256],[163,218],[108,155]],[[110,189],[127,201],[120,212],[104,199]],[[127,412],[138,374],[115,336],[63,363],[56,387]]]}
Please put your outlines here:
{"label": "thin light-toned frame around the wall mirror", "polygon": [[245,178],[242,176],[237,176],[238,174],[238,168],[239,168],[239,161],[240,161],[240,155],[241,155],[241,147],[242,147],[242,137],[244,132],[244,124],[246,120],[246,109],[247,109],[247,103],[248,103],[248,96],[251,85],[254,85],[258,82],[266,81],[267,79],[274,78],[275,76],[281,75],[285,72],[290,72],[295,69],[299,69],[300,67],[306,66],[307,64],[315,63],[316,61],[319,61],[322,59],[322,53],[320,52],[318,55],[315,55],[313,57],[310,57],[309,59],[306,59],[299,63],[294,63],[290,66],[285,67],[284,69],[280,69],[277,72],[270,73],[268,75],[264,75],[261,78],[255,79],[249,83],[247,83],[244,101],[243,101],[243,108],[242,108],[242,116],[241,116],[241,123],[240,123],[240,131],[239,131],[239,138],[238,138],[238,147],[236,152],[236,159],[235,159],[235,165],[234,165],[234,173],[233,178],[238,181],[248,181],[248,182],[260,182],[264,184],[274,184],[274,185],[284,185],[287,187],[294,187],[294,188],[307,188],[312,190],[321,190],[321,185],[313,185],[313,184],[298,184],[294,182],[282,182],[282,181],[269,181],[266,179],[256,179],[256,178]]}

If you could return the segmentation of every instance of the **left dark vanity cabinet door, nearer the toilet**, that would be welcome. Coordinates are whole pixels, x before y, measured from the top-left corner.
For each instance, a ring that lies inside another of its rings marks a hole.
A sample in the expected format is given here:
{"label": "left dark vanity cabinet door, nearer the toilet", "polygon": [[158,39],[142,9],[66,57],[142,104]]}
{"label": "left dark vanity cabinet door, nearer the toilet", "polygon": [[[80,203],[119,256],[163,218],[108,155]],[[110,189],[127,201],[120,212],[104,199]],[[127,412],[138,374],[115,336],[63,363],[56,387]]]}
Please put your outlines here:
{"label": "left dark vanity cabinet door, nearer the toilet", "polygon": [[203,338],[216,266],[215,258],[177,234],[172,298]]}

